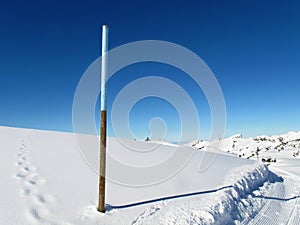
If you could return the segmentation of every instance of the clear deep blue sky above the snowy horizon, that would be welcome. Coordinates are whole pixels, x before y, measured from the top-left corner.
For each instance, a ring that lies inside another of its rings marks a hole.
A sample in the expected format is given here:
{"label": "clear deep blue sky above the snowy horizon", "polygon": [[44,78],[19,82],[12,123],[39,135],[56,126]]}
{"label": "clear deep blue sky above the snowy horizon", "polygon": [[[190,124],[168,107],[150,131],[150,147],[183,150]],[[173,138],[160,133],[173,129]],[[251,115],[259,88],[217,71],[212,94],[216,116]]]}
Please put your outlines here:
{"label": "clear deep blue sky above the snowy horizon", "polygon": [[[2,2],[0,125],[72,131],[76,86],[100,56],[101,25],[108,24],[110,49],[153,39],[198,54],[223,90],[227,136],[299,131],[299,10],[298,1]],[[201,99],[201,138],[207,138],[211,118],[205,97],[174,68],[125,68],[110,80],[108,106],[127,83],[156,73]],[[131,112],[137,137],[149,135],[153,117],[165,118],[167,138],[175,140],[180,130],[176,110],[155,98],[144,99]],[[110,123],[108,129],[113,135]]]}

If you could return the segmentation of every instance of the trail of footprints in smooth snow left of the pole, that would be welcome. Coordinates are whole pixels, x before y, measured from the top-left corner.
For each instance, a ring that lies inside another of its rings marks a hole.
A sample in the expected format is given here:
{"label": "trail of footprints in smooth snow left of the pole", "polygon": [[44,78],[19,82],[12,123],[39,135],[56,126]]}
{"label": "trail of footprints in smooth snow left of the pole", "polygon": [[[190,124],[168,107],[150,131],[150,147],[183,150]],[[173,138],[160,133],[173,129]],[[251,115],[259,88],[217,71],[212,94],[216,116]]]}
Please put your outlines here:
{"label": "trail of footprints in smooth snow left of the pole", "polygon": [[39,175],[38,168],[31,162],[31,134],[32,131],[29,130],[20,139],[15,162],[16,173],[13,174],[13,178],[19,184],[19,196],[25,199],[25,217],[30,224],[62,224],[53,221],[51,209],[55,205],[55,197],[40,190],[47,180]]}

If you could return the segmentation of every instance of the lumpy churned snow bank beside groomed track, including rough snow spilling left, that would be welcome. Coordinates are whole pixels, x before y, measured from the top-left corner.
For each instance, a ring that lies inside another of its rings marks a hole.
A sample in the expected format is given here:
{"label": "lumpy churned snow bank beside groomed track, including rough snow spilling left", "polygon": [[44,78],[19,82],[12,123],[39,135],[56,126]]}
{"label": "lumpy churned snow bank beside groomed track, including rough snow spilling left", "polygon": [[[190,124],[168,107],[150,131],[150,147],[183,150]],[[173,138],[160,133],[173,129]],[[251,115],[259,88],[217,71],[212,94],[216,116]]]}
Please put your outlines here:
{"label": "lumpy churned snow bank beside groomed track, including rough snow spilling left", "polygon": [[133,224],[239,224],[258,210],[260,205],[249,209],[242,206],[256,200],[251,197],[252,192],[263,186],[269,175],[268,168],[261,164],[233,169],[223,187],[193,197],[157,202]]}

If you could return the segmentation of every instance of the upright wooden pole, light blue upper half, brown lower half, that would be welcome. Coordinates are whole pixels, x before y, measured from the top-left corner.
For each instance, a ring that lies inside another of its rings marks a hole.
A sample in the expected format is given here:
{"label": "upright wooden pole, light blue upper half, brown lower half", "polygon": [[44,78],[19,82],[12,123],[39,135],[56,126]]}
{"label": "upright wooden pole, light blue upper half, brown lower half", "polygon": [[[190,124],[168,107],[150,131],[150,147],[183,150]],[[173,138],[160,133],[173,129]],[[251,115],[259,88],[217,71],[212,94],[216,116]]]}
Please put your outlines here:
{"label": "upright wooden pole, light blue upper half, brown lower half", "polygon": [[107,78],[108,26],[102,26],[101,63],[101,115],[100,115],[100,174],[98,211],[105,212],[105,173],[106,173],[106,78]]}

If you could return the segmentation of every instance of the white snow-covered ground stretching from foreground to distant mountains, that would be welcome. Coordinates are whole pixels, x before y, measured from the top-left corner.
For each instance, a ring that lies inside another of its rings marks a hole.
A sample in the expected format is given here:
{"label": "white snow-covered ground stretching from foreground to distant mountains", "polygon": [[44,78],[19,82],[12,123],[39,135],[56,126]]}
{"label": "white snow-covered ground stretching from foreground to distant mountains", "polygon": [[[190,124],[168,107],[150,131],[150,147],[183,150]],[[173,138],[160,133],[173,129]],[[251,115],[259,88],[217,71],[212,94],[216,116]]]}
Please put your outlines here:
{"label": "white snow-covered ground stretching from foreground to distant mountains", "polygon": [[[178,147],[192,157],[164,182],[144,187],[107,182],[102,214],[96,210],[98,175],[83,160],[72,133],[0,127],[0,224],[300,224],[300,158],[294,154],[299,136],[224,139],[225,152],[201,172],[203,157],[215,154],[205,151],[206,142]],[[145,149],[157,145],[123,142]],[[140,152],[108,139],[108,154],[138,162],[137,170],[144,162],[161,161],[175,147],[159,145],[143,153],[143,160]],[[262,158],[276,162],[267,166]],[[108,177],[122,174],[111,165],[108,160]]]}

